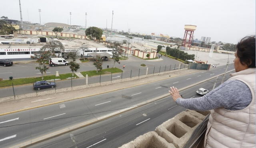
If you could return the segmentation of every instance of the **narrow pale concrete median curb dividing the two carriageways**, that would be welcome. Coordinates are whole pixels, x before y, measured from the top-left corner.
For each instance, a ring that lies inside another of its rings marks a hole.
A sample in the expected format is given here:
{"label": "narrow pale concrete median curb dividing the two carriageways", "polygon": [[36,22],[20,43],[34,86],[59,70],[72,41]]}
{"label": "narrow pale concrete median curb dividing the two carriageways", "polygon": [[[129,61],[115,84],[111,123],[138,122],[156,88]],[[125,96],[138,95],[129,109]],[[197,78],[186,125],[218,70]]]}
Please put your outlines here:
{"label": "narrow pale concrete median curb dividing the two carriageways", "polygon": [[[234,69],[231,70],[231,71],[234,71]],[[229,73],[229,72],[231,72],[231,71],[227,71],[227,73]],[[220,74],[220,75],[224,75],[224,73],[222,73],[222,74]],[[214,79],[215,77],[220,76],[220,75],[216,75],[216,76],[211,77],[211,78],[209,78],[209,79],[200,81],[200,82],[198,82],[198,83],[194,83],[194,84],[189,85],[189,86],[187,86],[187,87],[183,87],[183,88],[179,89],[179,91],[183,91],[183,90],[185,90],[185,89],[188,89],[189,87],[192,87],[192,86],[198,85],[198,84],[200,84],[200,83],[206,82],[206,81],[208,81],[208,80],[210,80],[210,79]],[[159,100],[159,99],[162,99],[162,98],[168,97],[168,96],[169,96],[169,93],[164,94],[164,95],[161,95],[161,96],[156,97],[156,98],[154,98],[154,99],[150,99],[150,100],[148,100],[148,101],[144,101],[144,102],[142,102],[142,103],[139,103],[138,105],[134,105],[133,107],[128,107],[128,108],[126,108],[126,109],[121,109],[121,110],[116,111],[116,112],[113,112],[113,113],[111,113],[111,114],[101,116],[101,117],[99,117],[99,119],[96,118],[96,119],[92,119],[92,120],[89,120],[89,121],[85,121],[85,122],[82,122],[82,123],[73,125],[73,126],[71,126],[71,127],[63,128],[63,129],[58,130],[58,131],[55,131],[55,132],[53,132],[53,133],[46,134],[46,135],[44,135],[44,136],[41,136],[41,137],[38,137],[38,138],[35,138],[35,139],[32,139],[32,140],[28,140],[28,141],[23,142],[23,143],[21,143],[21,144],[17,144],[17,145],[15,145],[15,146],[12,146],[11,148],[31,146],[31,145],[36,144],[36,143],[38,143],[38,142],[42,142],[42,141],[44,141],[44,140],[48,140],[48,139],[50,139],[50,138],[54,138],[54,137],[59,136],[59,135],[61,135],[61,134],[65,134],[65,133],[67,133],[67,132],[71,132],[71,131],[73,131],[73,130],[77,130],[77,129],[79,129],[79,128],[83,128],[83,127],[85,127],[85,126],[94,124],[94,123],[96,123],[96,122],[100,122],[100,121],[102,121],[102,120],[106,120],[106,119],[111,118],[111,117],[113,117],[113,116],[116,116],[116,115],[118,115],[118,114],[122,114],[122,113],[124,113],[124,112],[128,112],[128,111],[130,111],[130,110],[132,110],[132,109],[136,109],[136,108],[138,108],[138,107],[142,107],[142,106],[144,106],[144,105],[147,105],[147,104],[149,104],[149,103],[152,103],[152,102],[154,102],[154,101],[157,101],[157,100]]]}

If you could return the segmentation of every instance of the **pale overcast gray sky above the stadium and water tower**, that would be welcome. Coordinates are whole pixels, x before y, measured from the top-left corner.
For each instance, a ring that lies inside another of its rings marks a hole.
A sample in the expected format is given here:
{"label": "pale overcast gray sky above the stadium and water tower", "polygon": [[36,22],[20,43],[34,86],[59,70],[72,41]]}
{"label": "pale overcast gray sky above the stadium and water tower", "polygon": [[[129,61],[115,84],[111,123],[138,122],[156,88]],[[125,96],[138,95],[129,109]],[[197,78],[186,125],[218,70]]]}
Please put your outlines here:
{"label": "pale overcast gray sky above the stadium and water tower", "polygon": [[[4,1],[4,3],[2,2]],[[20,20],[18,0],[1,0],[1,16]],[[4,5],[3,5],[4,4]],[[184,25],[196,25],[194,39],[237,43],[255,34],[255,0],[21,0],[24,21],[70,21],[71,24],[113,28],[131,32],[168,34],[183,37]]]}

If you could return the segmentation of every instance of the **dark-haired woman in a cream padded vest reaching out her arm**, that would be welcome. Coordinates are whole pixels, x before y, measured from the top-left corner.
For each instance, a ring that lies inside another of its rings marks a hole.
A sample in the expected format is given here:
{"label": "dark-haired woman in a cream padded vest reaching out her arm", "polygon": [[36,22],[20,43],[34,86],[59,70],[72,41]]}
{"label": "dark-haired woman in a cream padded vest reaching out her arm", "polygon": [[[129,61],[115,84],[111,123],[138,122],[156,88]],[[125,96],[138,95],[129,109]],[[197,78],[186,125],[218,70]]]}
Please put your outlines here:
{"label": "dark-haired woman in a cream padded vest reaching out her arm", "polygon": [[206,148],[255,148],[255,36],[238,42],[234,67],[230,79],[203,97],[182,99],[177,88],[169,91],[182,107],[211,110]]}

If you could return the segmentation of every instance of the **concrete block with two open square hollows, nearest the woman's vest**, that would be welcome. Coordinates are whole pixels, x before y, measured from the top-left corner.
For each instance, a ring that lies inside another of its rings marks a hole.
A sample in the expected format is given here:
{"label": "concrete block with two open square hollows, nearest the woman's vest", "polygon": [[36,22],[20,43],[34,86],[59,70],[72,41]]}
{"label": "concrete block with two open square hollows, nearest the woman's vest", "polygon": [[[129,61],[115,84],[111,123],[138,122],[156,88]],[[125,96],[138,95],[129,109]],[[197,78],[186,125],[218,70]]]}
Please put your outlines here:
{"label": "concrete block with two open square hollows, nearest the woman's vest", "polygon": [[183,111],[156,127],[155,131],[176,148],[183,148],[201,122],[201,119]]}

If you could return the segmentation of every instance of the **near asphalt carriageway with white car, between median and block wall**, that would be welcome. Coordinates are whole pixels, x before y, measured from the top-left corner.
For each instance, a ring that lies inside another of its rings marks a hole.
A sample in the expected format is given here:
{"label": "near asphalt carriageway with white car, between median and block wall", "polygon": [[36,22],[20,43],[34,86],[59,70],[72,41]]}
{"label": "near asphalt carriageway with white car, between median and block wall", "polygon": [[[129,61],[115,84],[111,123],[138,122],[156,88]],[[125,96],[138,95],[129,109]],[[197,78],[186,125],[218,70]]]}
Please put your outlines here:
{"label": "near asphalt carriageway with white car, between median and block wall", "polygon": [[[229,77],[229,76],[228,76]],[[226,79],[228,79],[226,77]],[[212,90],[214,79],[181,91],[184,98],[200,97],[195,90]],[[218,81],[217,86],[220,85]],[[154,101],[143,107],[120,114],[108,120],[68,132],[61,136],[30,146],[31,148],[117,148],[136,137],[153,131],[158,125],[184,111],[170,98]]]}

